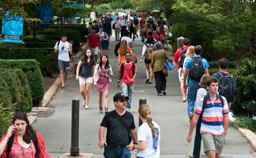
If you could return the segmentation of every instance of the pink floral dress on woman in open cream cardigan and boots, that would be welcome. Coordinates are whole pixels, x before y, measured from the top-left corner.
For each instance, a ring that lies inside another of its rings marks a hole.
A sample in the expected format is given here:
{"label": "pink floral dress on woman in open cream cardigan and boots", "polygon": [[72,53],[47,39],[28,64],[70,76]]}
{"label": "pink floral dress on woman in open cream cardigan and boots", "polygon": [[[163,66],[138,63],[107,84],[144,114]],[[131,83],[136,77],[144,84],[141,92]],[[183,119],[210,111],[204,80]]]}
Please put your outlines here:
{"label": "pink floral dress on woman in open cream cardigan and boots", "polygon": [[106,69],[100,69],[100,78],[96,84],[96,91],[109,91],[109,77],[105,75]]}

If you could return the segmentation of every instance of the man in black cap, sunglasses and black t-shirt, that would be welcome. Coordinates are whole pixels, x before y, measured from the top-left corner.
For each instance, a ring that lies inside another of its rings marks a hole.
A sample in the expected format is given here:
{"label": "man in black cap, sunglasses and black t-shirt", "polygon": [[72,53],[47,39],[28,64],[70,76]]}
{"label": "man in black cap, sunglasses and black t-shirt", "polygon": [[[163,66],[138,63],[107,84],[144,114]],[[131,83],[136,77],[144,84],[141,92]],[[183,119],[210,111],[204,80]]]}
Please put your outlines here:
{"label": "man in black cap, sunglasses and black t-shirt", "polygon": [[134,144],[138,144],[133,115],[125,110],[128,99],[129,97],[117,93],[113,97],[115,110],[108,112],[100,124],[98,145],[100,149],[104,148],[105,158],[130,158],[130,150],[126,147],[130,144],[130,133]]}

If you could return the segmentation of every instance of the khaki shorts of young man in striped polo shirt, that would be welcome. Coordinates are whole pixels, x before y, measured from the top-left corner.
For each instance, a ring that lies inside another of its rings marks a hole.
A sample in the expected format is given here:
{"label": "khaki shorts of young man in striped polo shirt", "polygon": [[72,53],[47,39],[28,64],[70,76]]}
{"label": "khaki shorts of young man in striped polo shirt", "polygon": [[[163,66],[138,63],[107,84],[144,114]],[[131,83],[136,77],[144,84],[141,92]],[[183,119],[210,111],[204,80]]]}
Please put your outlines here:
{"label": "khaki shorts of young man in striped polo shirt", "polygon": [[210,150],[215,150],[216,154],[221,154],[226,133],[223,132],[222,135],[212,135],[210,133],[201,133],[201,137],[204,143],[204,152],[208,152]]}

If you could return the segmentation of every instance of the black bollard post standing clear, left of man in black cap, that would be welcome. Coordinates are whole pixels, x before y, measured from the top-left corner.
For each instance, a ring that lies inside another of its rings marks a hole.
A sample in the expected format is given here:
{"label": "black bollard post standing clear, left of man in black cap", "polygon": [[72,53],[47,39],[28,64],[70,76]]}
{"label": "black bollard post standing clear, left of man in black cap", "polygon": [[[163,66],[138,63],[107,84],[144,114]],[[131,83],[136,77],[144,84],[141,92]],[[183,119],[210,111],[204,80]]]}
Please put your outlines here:
{"label": "black bollard post standing clear, left of man in black cap", "polygon": [[79,156],[79,99],[72,100],[70,156]]}

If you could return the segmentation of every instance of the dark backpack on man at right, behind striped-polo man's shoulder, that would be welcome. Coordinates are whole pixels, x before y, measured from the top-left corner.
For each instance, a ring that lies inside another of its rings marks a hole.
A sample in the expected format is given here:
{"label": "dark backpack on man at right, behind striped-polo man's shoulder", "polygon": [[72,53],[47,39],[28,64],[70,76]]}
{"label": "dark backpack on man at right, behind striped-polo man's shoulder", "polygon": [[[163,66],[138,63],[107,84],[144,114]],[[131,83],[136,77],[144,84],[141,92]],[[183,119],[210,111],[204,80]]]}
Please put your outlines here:
{"label": "dark backpack on man at right, behind striped-polo man's shoulder", "polygon": [[219,94],[227,99],[227,102],[230,103],[234,99],[234,83],[232,76],[230,74],[224,74],[217,72],[219,75]]}

